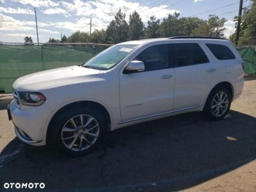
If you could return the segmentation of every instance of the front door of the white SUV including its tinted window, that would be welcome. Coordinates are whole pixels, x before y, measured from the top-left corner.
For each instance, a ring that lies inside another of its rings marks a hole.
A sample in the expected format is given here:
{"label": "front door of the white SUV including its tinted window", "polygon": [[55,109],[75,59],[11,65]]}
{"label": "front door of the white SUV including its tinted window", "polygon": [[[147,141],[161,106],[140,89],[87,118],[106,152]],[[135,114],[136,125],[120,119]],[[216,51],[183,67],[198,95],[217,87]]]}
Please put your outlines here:
{"label": "front door of the white SUV including its tinted window", "polygon": [[174,68],[170,68],[168,45],[151,46],[134,60],[144,62],[140,73],[119,73],[122,122],[160,115],[174,107]]}

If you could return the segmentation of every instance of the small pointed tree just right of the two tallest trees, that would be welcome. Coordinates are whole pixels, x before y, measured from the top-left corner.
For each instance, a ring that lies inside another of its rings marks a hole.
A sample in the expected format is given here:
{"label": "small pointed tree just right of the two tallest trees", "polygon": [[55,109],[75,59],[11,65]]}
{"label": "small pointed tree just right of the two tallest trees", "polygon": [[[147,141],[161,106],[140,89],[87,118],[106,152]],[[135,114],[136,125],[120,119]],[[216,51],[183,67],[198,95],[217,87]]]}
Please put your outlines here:
{"label": "small pointed tree just right of the two tallest trees", "polygon": [[145,28],[145,36],[146,38],[158,38],[160,37],[160,20],[155,16],[151,16],[150,20],[147,22],[148,26]]}

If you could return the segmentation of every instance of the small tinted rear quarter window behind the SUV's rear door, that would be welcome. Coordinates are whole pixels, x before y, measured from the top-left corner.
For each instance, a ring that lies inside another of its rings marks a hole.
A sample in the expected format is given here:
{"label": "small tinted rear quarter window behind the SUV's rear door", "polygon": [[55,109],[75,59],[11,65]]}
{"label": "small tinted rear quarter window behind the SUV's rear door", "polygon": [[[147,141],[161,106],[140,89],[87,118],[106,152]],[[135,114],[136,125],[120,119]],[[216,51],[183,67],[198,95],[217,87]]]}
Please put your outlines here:
{"label": "small tinted rear quarter window behind the SUV's rear door", "polygon": [[206,46],[208,46],[213,55],[219,60],[235,59],[235,55],[227,46],[217,44],[206,44]]}

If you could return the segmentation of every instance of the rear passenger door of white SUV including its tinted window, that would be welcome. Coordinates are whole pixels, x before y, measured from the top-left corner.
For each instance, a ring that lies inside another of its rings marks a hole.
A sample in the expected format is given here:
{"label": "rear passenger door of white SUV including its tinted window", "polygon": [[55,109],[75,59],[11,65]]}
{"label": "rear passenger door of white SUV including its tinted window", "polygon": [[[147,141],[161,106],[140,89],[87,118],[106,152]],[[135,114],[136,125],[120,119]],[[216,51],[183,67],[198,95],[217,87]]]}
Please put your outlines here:
{"label": "rear passenger door of white SUV including its tinted window", "polygon": [[171,63],[175,66],[174,110],[204,105],[218,68],[199,43],[171,43]]}

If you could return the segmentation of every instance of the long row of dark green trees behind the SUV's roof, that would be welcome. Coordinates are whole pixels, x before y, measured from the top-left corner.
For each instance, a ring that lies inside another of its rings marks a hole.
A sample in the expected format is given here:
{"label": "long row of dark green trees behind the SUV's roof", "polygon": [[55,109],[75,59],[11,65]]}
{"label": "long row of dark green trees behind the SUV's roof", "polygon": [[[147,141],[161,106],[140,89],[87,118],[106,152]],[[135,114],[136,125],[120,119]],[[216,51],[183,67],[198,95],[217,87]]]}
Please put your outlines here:
{"label": "long row of dark green trees behind the SUV's roof", "polygon": [[[256,1],[256,0],[255,0]],[[255,14],[256,15],[256,14]],[[70,37],[63,36],[61,43],[108,43],[116,44],[129,40],[142,38],[164,38],[171,36],[224,36],[225,18],[210,15],[208,20],[197,17],[179,17],[179,13],[169,14],[160,22],[155,16],[151,16],[144,26],[142,18],[137,11],[129,15],[129,23],[125,20],[125,14],[121,9],[117,11],[114,19],[104,30],[95,30],[91,35],[85,32],[76,31]],[[50,38],[50,42],[58,42]]]}

